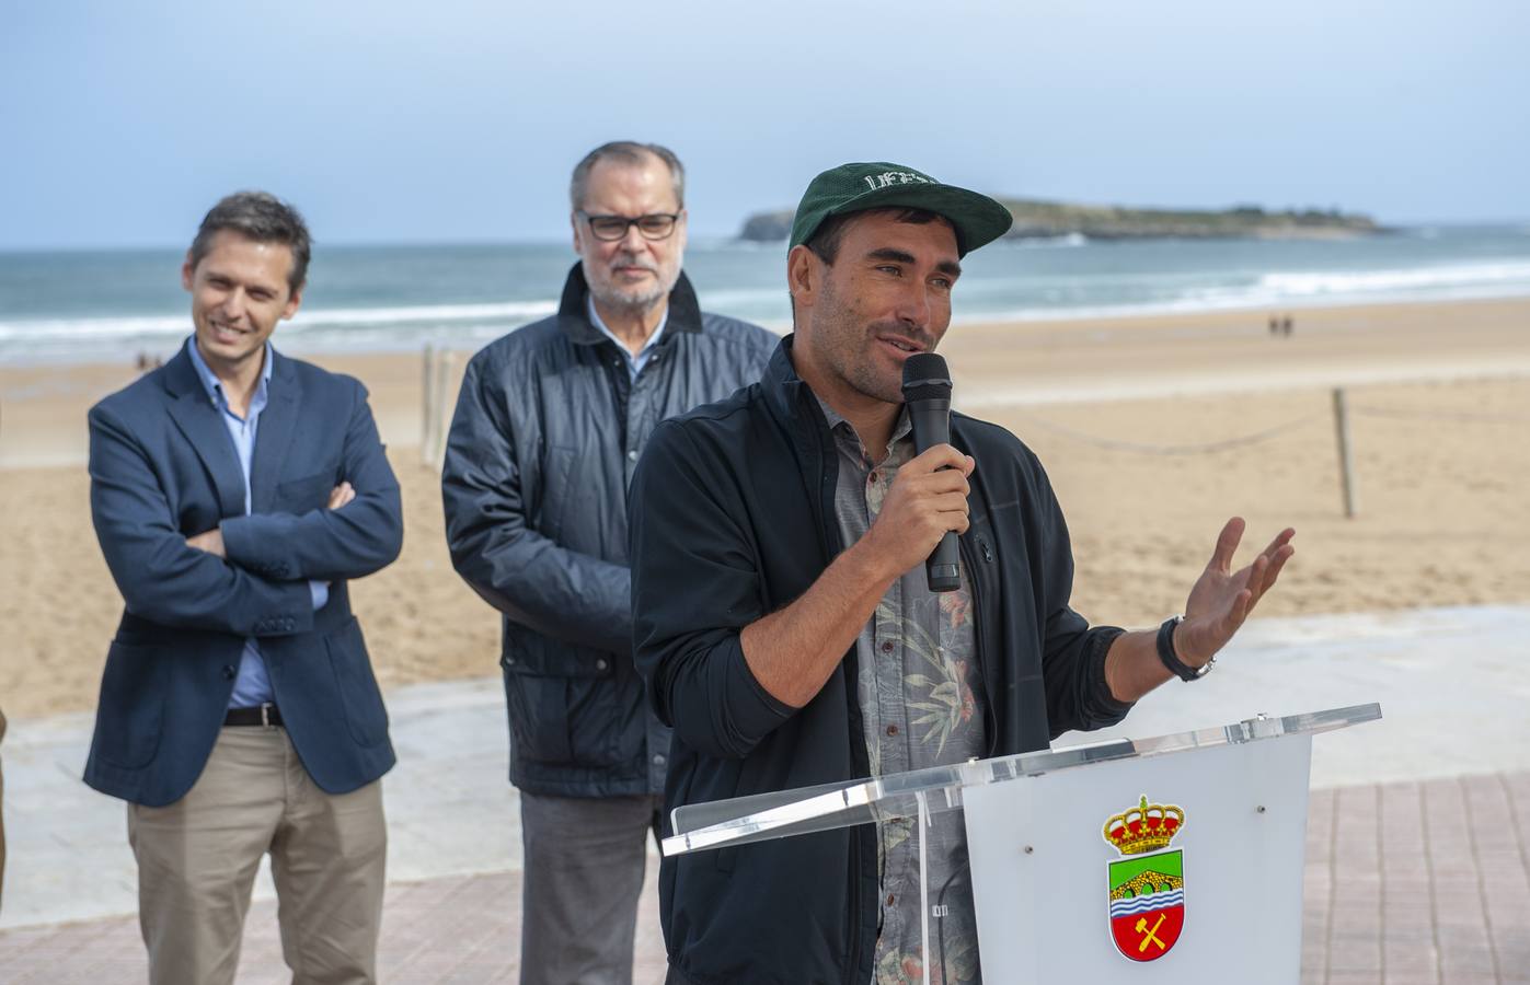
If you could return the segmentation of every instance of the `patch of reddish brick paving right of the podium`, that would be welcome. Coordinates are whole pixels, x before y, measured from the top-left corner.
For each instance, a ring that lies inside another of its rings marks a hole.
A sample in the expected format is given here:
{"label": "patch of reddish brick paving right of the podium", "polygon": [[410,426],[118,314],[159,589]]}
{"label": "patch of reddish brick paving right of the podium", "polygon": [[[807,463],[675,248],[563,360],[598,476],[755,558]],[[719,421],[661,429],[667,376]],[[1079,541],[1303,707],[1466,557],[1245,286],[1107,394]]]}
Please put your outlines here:
{"label": "patch of reddish brick paving right of the podium", "polygon": [[1314,791],[1304,985],[1530,982],[1530,772]]}

